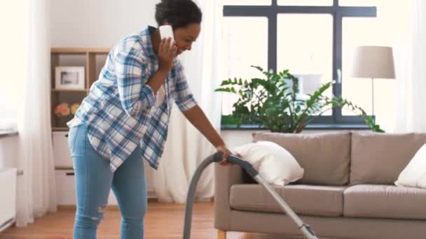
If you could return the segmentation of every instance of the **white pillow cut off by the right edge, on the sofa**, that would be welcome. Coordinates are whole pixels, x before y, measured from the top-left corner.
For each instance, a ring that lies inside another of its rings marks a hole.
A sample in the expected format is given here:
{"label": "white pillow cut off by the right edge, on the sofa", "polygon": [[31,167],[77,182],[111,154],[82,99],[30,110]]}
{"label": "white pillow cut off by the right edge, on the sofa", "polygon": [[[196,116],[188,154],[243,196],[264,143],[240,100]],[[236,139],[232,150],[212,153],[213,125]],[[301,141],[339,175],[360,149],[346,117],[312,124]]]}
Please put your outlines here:
{"label": "white pillow cut off by the right edge, on the sofa", "polygon": [[395,185],[426,189],[426,144],[420,147],[413,159],[399,174]]}

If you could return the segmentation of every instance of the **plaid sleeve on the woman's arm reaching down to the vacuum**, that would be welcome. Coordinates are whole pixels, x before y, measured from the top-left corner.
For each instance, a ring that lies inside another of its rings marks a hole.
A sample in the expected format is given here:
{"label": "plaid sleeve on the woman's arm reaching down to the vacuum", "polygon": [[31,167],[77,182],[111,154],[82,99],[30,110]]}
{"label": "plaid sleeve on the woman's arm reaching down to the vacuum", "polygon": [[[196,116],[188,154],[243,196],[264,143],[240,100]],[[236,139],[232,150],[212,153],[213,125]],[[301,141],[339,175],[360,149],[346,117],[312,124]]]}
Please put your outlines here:
{"label": "plaid sleeve on the woman's arm reaching down to the vacuum", "polygon": [[176,85],[174,89],[174,102],[177,104],[177,107],[181,112],[189,110],[194,106],[197,106],[197,101],[195,101],[191,89],[188,87],[188,82],[186,81],[186,76],[184,73],[184,67],[180,64],[179,61],[175,62],[176,66]]}

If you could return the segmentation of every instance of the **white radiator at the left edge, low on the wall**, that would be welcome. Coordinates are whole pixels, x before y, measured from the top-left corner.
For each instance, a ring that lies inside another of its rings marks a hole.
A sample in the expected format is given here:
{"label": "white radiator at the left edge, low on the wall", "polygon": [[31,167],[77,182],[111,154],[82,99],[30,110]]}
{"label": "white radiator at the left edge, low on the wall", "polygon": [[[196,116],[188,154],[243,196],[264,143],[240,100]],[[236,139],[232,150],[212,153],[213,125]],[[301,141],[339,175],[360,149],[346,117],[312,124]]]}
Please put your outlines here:
{"label": "white radiator at the left edge, low on the wall", "polygon": [[0,232],[15,222],[16,168],[0,168]]}

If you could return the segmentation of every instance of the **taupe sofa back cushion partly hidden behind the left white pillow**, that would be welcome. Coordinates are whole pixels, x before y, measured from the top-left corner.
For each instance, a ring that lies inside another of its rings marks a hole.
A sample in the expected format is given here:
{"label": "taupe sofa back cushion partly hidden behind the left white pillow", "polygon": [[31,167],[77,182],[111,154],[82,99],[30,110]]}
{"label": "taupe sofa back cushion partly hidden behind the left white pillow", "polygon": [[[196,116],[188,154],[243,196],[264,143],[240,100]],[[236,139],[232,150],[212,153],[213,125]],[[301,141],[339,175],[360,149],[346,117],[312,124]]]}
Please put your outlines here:
{"label": "taupe sofa back cushion partly hidden behind the left white pillow", "polygon": [[350,132],[254,133],[253,140],[272,141],[288,150],[305,169],[301,184],[348,184]]}

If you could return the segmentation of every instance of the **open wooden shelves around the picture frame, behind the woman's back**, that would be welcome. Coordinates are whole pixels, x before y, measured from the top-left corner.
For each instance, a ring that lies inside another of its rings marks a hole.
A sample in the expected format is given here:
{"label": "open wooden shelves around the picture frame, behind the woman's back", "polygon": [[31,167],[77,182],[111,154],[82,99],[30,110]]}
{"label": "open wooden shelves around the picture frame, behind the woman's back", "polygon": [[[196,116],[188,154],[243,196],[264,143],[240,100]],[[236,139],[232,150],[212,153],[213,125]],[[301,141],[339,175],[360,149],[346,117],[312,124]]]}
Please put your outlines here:
{"label": "open wooden shelves around the picture frame, behind the woman's back", "polygon": [[[88,95],[90,86],[99,76],[105,60],[109,54],[109,48],[51,48],[50,49],[50,109],[53,131],[67,131],[66,123],[74,117],[68,115],[58,117],[55,115],[55,107],[60,103],[80,104]],[[55,67],[57,66],[83,66],[85,68],[84,89],[55,89]]]}

